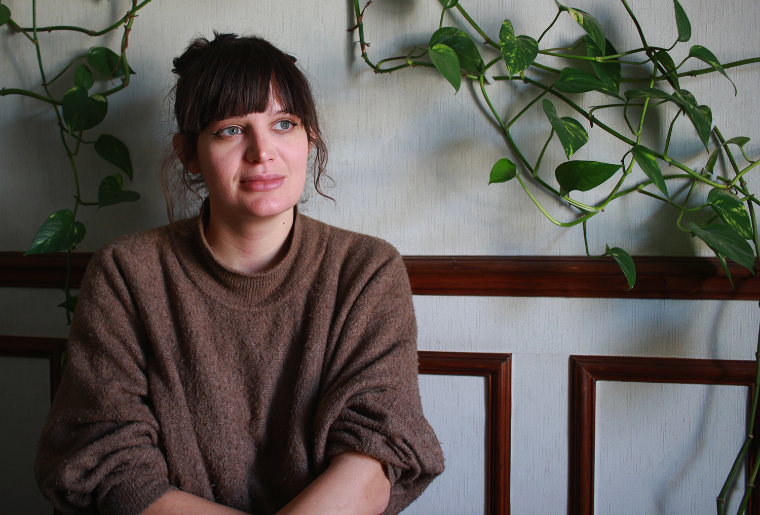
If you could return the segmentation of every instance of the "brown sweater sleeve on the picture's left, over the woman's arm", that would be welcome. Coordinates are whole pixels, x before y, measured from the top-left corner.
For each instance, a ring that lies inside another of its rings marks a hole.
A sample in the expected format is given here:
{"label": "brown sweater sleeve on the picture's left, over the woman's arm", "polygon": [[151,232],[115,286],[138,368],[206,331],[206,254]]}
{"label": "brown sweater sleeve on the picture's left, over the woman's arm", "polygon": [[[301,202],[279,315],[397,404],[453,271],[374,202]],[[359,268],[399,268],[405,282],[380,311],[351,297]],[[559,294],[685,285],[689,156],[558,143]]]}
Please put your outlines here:
{"label": "brown sweater sleeve on the picture's left, over the woman's arm", "polygon": [[68,366],[35,475],[63,513],[137,515],[173,489],[148,398],[147,345],[113,251],[93,257],[68,340]]}

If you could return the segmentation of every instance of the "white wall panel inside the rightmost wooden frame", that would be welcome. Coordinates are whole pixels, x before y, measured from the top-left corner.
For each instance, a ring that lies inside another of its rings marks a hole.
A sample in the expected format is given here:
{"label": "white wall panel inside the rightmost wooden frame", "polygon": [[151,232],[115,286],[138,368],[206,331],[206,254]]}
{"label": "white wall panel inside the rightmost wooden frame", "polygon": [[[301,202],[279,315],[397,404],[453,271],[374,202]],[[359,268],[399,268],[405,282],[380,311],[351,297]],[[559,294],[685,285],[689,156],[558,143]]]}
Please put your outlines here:
{"label": "white wall panel inside the rightmost wooden frame", "polygon": [[[597,381],[594,513],[714,511],[746,404],[744,386]],[[743,477],[726,513],[739,507]]]}

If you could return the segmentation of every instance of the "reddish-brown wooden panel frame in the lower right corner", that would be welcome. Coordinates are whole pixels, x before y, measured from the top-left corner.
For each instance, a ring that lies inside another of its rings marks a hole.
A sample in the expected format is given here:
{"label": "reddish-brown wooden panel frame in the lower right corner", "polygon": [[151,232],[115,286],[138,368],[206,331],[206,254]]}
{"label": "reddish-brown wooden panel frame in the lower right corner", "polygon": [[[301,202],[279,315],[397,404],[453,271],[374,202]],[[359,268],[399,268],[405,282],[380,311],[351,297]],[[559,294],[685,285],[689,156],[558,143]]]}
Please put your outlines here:
{"label": "reddish-brown wooden panel frame in the lower right corner", "polygon": [[[571,515],[594,513],[597,381],[723,384],[749,386],[752,390],[755,367],[755,361],[570,356],[568,504]],[[755,416],[755,428],[760,428],[758,424],[760,412]],[[753,443],[749,456],[755,456],[756,452],[757,445]],[[760,492],[755,488],[747,513],[760,514],[758,501]]]}

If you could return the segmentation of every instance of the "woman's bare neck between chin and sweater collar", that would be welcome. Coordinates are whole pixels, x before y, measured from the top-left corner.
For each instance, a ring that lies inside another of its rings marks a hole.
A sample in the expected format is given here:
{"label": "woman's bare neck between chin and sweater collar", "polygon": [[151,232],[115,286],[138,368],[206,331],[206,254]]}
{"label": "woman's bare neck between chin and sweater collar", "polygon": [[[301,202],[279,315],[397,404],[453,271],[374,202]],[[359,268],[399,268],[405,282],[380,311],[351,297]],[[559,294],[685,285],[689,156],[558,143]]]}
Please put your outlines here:
{"label": "woman's bare neck between chin and sweater collar", "polygon": [[223,215],[211,217],[204,235],[214,256],[231,269],[252,274],[272,269],[290,246],[293,208],[266,218],[249,218],[230,223]]}

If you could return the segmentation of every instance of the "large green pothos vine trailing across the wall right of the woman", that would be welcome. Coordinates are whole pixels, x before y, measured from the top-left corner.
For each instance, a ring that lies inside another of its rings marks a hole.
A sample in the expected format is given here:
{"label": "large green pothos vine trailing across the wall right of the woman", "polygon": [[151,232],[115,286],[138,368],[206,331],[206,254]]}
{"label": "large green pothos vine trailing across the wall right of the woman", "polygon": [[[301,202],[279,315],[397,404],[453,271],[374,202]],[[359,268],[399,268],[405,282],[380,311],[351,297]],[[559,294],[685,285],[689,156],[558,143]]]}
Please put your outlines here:
{"label": "large green pothos vine trailing across the wall right of the woman", "polygon": [[[745,176],[760,164],[760,160],[752,159],[746,154],[745,146],[749,142],[748,137],[739,135],[725,138],[720,129],[713,125],[710,107],[700,104],[692,93],[683,89],[679,79],[685,76],[694,77],[717,72],[730,81],[726,72],[728,68],[760,62],[760,58],[721,64],[713,52],[705,46],[693,45],[686,58],[676,65],[670,52],[679,44],[688,42],[692,36],[689,17],[678,0],[673,0],[677,37],[673,45],[668,48],[651,46],[644,36],[638,18],[626,0],[620,0],[641,40],[641,46],[638,48],[624,51],[616,49],[605,37],[603,27],[594,16],[577,8],[566,7],[559,2],[555,2],[556,16],[537,39],[524,35],[516,36],[515,29],[509,20],[505,20],[502,24],[498,38],[489,37],[458,4],[458,0],[440,0],[440,2],[443,6],[441,21],[438,30],[432,33],[426,46],[414,46],[405,55],[382,59],[377,64],[374,64],[367,55],[369,43],[365,40],[363,27],[365,10],[372,2],[367,2],[362,8],[359,0],[354,0],[357,23],[349,30],[359,30],[362,57],[376,73],[389,73],[408,67],[427,67],[440,72],[455,91],[459,90],[463,79],[473,81],[477,85],[483,100],[489,106],[492,122],[501,129],[520,165],[518,167],[518,164],[508,157],[502,157],[496,161],[490,171],[489,184],[517,179],[530,200],[553,224],[561,227],[582,225],[587,255],[592,258],[612,256],[625,274],[629,289],[634,287],[636,281],[633,259],[625,250],[609,245],[600,256],[591,255],[588,250],[586,224],[611,202],[633,193],[649,196],[676,208],[679,211],[675,220],[676,227],[704,241],[713,250],[729,281],[731,281],[731,275],[727,267],[727,259],[745,266],[754,274],[755,256],[760,248],[755,205],[760,205],[760,200],[755,198],[749,190]],[[483,58],[479,47],[464,29],[443,27],[446,11],[454,8],[461,17],[464,17],[469,25],[468,29],[474,30],[483,38],[483,51],[495,54],[492,58]],[[541,40],[563,14],[567,14],[578,23],[582,29],[582,37],[571,46],[543,48]],[[581,50],[583,52],[579,52]],[[562,69],[553,68],[540,62],[541,58],[563,59],[568,66]],[[707,67],[679,72],[687,62],[705,63]],[[500,67],[505,69],[505,75],[492,75],[489,70],[499,63],[501,63]],[[580,65],[581,63],[591,65],[591,69],[583,69],[585,67]],[[641,68],[642,72],[624,78],[622,65],[627,65],[627,69]],[[510,119],[500,115],[499,110],[493,106],[487,91],[487,84],[496,84],[499,81],[512,84],[513,87],[525,87],[535,91],[534,97]],[[635,84],[635,86],[621,91],[622,84]],[[736,92],[735,85],[733,89]],[[584,107],[581,105],[582,97],[581,100],[576,100],[577,97],[568,96],[587,92],[601,93],[609,101],[601,105]],[[597,131],[612,135],[624,142],[628,149],[622,155],[615,156],[611,163],[571,159],[579,148],[587,144],[588,132],[578,119],[572,116],[559,116],[550,98],[569,106],[587,120],[591,128],[596,127]],[[540,109],[531,110],[534,106]],[[652,132],[645,121],[654,110],[659,110],[664,114],[675,113],[668,126],[667,135],[656,132],[652,135],[654,137],[644,140],[662,141],[664,139],[663,144],[657,148],[651,148],[642,143],[644,135]],[[619,129],[608,125],[609,121],[597,118],[597,112],[618,113],[616,122]],[[546,142],[537,156],[530,157],[515,142],[511,129],[516,126],[515,124],[519,126],[519,122],[524,122],[529,118],[530,122],[534,122],[536,117],[544,120]],[[692,170],[692,167],[668,154],[676,122],[691,124],[696,131],[698,141],[709,151],[704,167],[700,171]],[[554,181],[552,181],[542,176],[540,165],[549,143],[555,136],[562,145],[567,161],[556,167]],[[657,136],[664,136],[664,138],[657,138]],[[738,151],[744,160],[741,164],[736,160],[735,151]],[[727,157],[730,171],[718,170],[716,167],[717,159],[722,155]],[[667,164],[676,171],[663,173],[662,164]],[[528,184],[521,176],[522,170],[530,173],[530,179],[537,186],[575,210],[570,220],[559,221],[546,211],[546,208],[530,192]],[[576,191],[601,189],[602,186],[608,184],[608,181],[612,186],[596,204],[579,202],[572,196],[572,192]],[[686,183],[688,192],[682,202],[677,202],[671,197],[670,192],[673,191],[673,187],[669,190],[668,184],[673,181],[679,183],[679,186]],[[697,188],[708,189],[706,202],[695,201],[696,196],[693,193]],[[686,212],[704,214],[703,220],[699,223],[689,221],[686,225],[682,224],[682,218]],[[724,513],[731,485],[743,463],[746,463],[749,444],[754,434],[753,424],[758,405],[758,393],[760,393],[760,336],[758,336],[758,354],[756,355],[758,356],[758,379],[755,380],[752,395],[747,436],[724,487],[717,496],[719,515]],[[737,513],[744,513],[746,510],[758,474],[758,467],[760,467],[760,455],[755,457],[752,470],[748,471],[745,492]]]}

